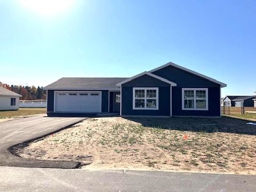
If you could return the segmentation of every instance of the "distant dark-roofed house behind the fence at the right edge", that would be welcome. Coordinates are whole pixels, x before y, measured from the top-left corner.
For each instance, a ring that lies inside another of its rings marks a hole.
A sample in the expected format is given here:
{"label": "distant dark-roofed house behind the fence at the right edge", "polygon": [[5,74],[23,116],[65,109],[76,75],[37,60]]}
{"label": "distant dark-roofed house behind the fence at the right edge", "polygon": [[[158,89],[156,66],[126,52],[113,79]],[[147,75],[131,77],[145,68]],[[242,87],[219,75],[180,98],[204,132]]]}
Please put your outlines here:
{"label": "distant dark-roofed house behind the fence at the right edge", "polygon": [[254,107],[255,96],[226,96],[222,99],[224,106],[228,107],[241,107],[242,103],[244,107]]}

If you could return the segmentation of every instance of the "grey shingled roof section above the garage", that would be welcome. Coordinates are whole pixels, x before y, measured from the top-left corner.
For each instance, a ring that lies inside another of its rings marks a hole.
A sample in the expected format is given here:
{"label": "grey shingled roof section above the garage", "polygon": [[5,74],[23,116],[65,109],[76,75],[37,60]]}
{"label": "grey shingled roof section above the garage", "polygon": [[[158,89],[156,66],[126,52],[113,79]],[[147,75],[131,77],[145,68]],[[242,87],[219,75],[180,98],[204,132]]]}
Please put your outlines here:
{"label": "grey shingled roof section above the garage", "polygon": [[62,77],[44,87],[44,90],[119,90],[118,82],[127,78],[121,77]]}

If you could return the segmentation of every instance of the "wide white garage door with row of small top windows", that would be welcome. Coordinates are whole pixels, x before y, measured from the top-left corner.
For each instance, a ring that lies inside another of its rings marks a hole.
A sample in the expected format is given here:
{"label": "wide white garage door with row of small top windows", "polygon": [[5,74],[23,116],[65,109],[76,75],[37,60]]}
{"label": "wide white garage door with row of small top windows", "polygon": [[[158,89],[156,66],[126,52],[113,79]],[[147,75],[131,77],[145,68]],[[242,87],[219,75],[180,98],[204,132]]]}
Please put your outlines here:
{"label": "wide white garage door with row of small top windows", "polygon": [[55,92],[56,112],[101,112],[101,92]]}

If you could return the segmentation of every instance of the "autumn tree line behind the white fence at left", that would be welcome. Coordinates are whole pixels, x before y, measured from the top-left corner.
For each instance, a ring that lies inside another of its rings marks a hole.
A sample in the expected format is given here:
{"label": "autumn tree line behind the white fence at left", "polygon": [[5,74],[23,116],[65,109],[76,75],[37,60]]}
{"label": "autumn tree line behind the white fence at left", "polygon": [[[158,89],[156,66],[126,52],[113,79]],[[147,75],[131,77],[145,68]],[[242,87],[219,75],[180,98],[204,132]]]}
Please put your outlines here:
{"label": "autumn tree line behind the white fence at left", "polygon": [[46,100],[46,90],[43,87],[22,86],[22,85],[8,85],[0,82],[0,86],[7,90],[11,90],[15,93],[22,95],[21,100]]}

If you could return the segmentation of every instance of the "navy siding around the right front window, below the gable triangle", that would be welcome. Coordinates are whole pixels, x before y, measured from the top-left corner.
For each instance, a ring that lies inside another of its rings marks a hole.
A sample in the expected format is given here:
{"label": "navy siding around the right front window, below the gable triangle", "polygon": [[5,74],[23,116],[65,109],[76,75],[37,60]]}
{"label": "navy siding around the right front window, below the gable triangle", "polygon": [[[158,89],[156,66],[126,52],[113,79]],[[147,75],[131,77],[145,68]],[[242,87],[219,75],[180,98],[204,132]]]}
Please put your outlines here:
{"label": "navy siding around the right front window, below the gable triangle", "polygon": [[182,110],[182,88],[172,87],[172,115],[220,116],[220,87],[208,87],[208,110]]}

